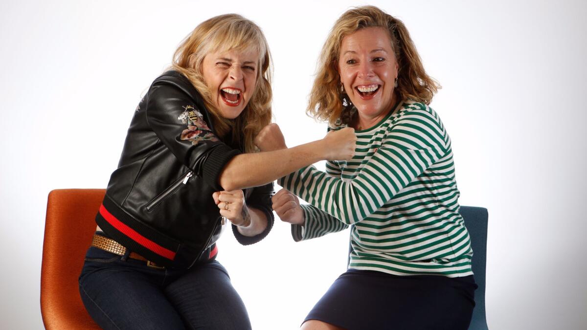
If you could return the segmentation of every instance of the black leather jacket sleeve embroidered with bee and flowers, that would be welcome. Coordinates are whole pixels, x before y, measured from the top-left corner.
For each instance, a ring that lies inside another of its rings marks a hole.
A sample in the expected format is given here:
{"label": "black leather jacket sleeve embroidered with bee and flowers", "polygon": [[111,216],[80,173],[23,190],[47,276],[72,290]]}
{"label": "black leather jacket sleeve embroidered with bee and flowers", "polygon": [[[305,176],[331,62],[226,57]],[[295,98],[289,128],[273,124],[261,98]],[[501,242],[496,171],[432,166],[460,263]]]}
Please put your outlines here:
{"label": "black leather jacket sleeve embroidered with bee and flowers", "polygon": [[191,84],[177,77],[157,79],[147,93],[149,127],[176,158],[215,190],[218,176],[240,151],[232,149],[210,129],[210,118]]}

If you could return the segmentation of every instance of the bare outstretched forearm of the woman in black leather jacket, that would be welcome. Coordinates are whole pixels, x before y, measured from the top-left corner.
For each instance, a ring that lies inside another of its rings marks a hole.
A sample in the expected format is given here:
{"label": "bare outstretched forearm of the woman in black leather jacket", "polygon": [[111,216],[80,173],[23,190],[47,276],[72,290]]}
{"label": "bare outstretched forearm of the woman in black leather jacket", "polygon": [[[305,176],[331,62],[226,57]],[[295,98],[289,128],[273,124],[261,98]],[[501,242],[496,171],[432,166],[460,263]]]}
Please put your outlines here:
{"label": "bare outstretched forearm of the woman in black leather jacket", "polygon": [[327,147],[318,140],[289,149],[239,154],[227,163],[218,180],[224,190],[261,186],[326,159]]}

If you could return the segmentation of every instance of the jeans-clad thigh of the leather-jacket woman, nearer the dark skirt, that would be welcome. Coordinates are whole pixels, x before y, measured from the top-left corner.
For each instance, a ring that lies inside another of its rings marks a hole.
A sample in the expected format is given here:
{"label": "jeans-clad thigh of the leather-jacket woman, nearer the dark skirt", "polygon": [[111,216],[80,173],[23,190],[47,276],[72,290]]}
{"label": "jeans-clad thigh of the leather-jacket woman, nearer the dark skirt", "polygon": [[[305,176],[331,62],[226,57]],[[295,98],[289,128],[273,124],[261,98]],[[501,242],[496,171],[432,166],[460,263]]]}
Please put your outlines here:
{"label": "jeans-clad thigh of the leather-jacket woman, nearer the dark skirt", "polygon": [[251,328],[247,309],[218,261],[190,270],[169,284],[165,292],[188,328]]}

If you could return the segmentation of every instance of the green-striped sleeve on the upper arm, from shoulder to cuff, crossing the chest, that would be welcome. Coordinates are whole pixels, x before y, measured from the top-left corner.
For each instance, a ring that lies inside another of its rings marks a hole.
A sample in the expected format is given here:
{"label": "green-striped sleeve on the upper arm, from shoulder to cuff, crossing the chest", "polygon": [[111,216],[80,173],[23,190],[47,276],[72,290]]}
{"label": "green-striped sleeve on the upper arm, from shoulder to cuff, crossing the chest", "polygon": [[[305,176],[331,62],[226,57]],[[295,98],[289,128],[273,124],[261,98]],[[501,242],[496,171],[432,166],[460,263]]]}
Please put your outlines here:
{"label": "green-striped sleeve on the upper arm, from shoulder to cuff, crossing the chest", "polygon": [[352,180],[314,166],[279,179],[279,184],[344,224],[373,214],[446,153],[447,134],[436,113],[413,109],[397,117],[369,162]]}

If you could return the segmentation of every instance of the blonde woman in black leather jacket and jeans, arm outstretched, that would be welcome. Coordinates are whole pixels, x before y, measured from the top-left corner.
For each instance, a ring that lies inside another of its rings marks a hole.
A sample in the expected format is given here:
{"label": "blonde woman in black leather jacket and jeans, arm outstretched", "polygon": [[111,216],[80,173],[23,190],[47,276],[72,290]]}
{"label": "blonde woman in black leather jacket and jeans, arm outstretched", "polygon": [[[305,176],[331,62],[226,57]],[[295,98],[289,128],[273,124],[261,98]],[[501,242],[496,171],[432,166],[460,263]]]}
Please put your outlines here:
{"label": "blonde woman in black leather jacket and jeans, arm outstretched", "polygon": [[79,280],[102,328],[251,328],[215,260],[222,224],[241,244],[262,240],[273,224],[272,181],[350,159],[356,140],[348,129],[255,153],[255,137],[272,127],[270,58],[255,23],[208,19],[137,106]]}

